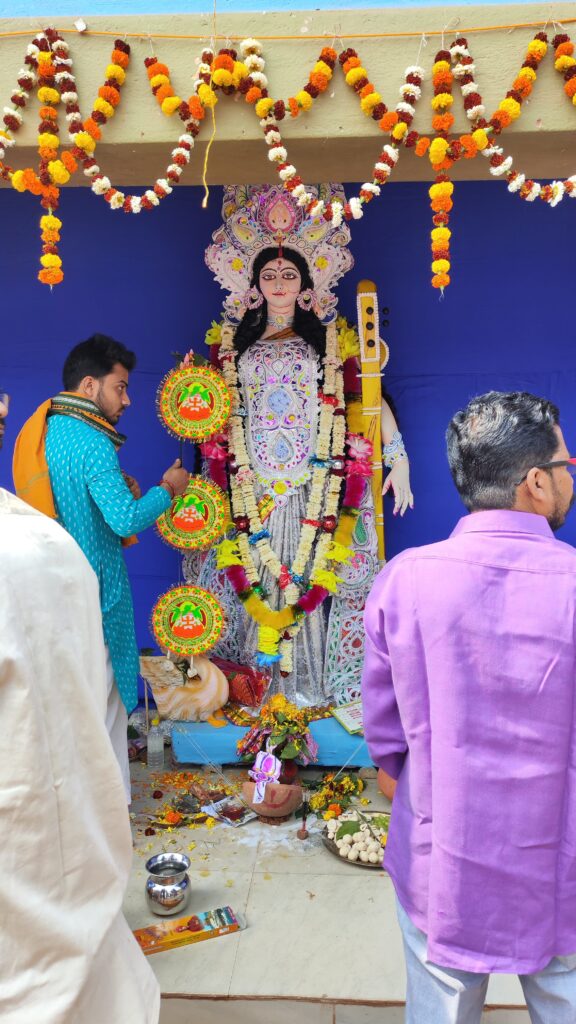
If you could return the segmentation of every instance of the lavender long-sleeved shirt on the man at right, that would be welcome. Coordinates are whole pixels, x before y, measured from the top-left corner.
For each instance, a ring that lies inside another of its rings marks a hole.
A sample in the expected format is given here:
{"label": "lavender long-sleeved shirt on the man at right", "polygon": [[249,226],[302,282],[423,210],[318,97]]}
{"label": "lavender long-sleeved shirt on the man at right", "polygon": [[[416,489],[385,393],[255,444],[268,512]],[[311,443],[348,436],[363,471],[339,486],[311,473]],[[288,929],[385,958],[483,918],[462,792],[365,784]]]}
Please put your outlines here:
{"label": "lavender long-sleeved shirt on the man at right", "polygon": [[477,512],[377,577],[365,731],[399,779],[385,867],[433,963],[529,974],[576,952],[576,552]]}

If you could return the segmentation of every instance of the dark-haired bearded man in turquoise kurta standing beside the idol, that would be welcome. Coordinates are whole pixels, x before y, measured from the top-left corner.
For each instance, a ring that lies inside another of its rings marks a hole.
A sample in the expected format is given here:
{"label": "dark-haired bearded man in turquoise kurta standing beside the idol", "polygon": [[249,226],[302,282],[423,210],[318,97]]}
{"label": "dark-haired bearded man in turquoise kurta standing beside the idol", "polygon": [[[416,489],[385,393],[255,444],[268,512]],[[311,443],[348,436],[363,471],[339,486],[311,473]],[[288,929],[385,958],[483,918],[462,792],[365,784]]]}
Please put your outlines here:
{"label": "dark-haired bearded man in turquoise kurta standing beside the idol", "polygon": [[104,335],[77,345],[65,362],[66,390],[47,411],[45,434],[57,518],[82,548],[99,582],[109,651],[107,725],[128,801],[126,727],[127,713],[137,702],[138,650],[122,546],[131,535],[151,526],[172,498],[186,490],[190,479],[176,460],[160,483],[140,497],[135,480],[120,469],[117,450],[125,438],[115,424],[130,404],[128,377],[134,365],[133,352]]}

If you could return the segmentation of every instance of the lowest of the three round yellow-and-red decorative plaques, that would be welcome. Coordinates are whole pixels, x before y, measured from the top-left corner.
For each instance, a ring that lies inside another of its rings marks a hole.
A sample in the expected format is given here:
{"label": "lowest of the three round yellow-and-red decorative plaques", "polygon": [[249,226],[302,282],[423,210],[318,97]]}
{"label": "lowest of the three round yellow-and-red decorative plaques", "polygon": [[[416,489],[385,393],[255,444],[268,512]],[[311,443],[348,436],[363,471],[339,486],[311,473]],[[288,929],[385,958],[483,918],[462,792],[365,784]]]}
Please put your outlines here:
{"label": "lowest of the three round yellow-and-red decorative plaques", "polygon": [[152,609],[152,629],[158,645],[183,657],[210,650],[223,624],[220,605],[201,587],[172,587]]}

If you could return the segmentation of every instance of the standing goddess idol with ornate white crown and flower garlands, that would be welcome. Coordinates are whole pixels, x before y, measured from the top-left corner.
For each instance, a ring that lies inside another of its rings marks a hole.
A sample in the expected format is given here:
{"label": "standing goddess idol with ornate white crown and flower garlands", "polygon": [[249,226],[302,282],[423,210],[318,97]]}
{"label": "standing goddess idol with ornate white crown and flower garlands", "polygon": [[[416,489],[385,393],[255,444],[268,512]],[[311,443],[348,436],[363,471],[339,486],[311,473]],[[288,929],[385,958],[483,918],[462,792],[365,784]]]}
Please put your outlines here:
{"label": "standing goddess idol with ornate white crown and flower garlands", "polygon": [[[378,568],[354,331],[339,329],[332,292],[353,264],[349,232],[274,186],[229,187],[222,212],[206,261],[229,293],[211,334],[232,413],[201,447],[234,529],[200,569],[188,555],[184,574],[225,607],[214,653],[266,668],[269,694],[300,707],[344,702],[360,693],[362,611]],[[384,487],[404,512],[408,459],[384,399],[379,422]]]}

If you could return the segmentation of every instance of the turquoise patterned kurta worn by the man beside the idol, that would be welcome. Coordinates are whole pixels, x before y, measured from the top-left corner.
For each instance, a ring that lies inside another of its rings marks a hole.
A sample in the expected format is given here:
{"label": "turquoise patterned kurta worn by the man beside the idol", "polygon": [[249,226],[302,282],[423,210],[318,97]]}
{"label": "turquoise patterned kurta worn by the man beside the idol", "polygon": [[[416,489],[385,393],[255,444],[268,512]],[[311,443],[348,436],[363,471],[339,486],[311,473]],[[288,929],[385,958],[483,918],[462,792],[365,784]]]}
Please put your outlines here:
{"label": "turquoise patterned kurta worn by the man beside the idol", "polygon": [[120,696],[130,712],[138,699],[138,649],[121,538],[156,522],[170,498],[164,487],[151,487],[136,501],[112,441],[70,416],[48,419],[46,461],[58,520],[98,578],[105,639]]}

